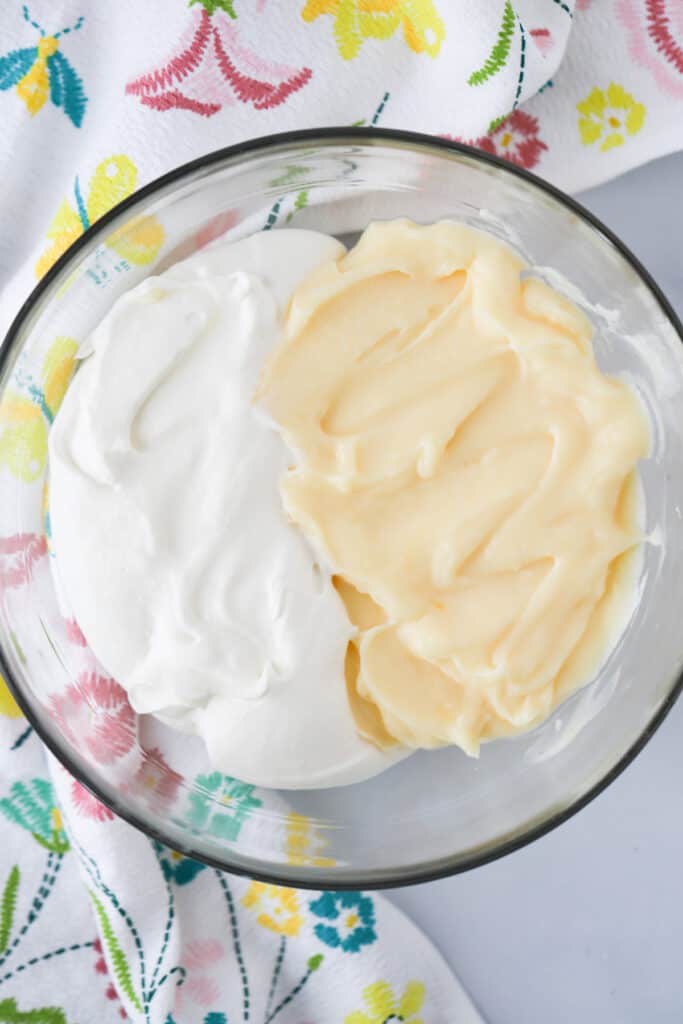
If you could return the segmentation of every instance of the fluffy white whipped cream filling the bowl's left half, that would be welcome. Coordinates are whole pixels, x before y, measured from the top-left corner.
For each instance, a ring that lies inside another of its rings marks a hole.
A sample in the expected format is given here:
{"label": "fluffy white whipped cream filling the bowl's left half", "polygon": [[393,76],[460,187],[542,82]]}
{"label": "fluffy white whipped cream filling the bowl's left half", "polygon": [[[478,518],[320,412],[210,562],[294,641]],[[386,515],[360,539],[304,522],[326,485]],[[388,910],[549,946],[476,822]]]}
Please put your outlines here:
{"label": "fluffy white whipped cream filling the bowl's left half", "polygon": [[251,401],[292,292],[343,251],[262,232],[143,282],[93,333],[50,432],[59,587],[92,650],[136,712],[259,785],[355,782],[400,756],[356,732],[351,626],[285,517],[294,456]]}

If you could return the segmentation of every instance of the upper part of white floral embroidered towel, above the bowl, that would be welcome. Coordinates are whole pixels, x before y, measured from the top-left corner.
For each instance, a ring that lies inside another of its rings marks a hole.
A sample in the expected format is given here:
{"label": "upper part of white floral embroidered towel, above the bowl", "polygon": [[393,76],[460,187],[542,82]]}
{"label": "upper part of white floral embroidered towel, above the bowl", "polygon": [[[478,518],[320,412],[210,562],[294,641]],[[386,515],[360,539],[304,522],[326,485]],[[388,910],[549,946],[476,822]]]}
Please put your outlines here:
{"label": "upper part of white floral embroidered towel, above the bowl", "polygon": [[[250,136],[418,127],[572,191],[678,148],[682,11],[680,0],[5,0],[0,330],[113,203]],[[114,158],[125,171],[102,187]]]}

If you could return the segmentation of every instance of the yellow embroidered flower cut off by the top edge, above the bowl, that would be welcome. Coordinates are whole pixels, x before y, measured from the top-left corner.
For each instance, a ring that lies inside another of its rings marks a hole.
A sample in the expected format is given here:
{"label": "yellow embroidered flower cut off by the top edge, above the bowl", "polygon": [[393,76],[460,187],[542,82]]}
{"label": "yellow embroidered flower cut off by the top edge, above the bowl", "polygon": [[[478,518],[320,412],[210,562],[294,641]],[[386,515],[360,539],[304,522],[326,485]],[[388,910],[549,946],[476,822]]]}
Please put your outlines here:
{"label": "yellow embroidered flower cut off by the top edge, above the bowl", "polygon": [[334,36],[344,60],[360,52],[366,39],[389,39],[399,26],[415,53],[435,57],[445,38],[445,26],[432,0],[306,0],[304,22],[321,14],[335,18]]}

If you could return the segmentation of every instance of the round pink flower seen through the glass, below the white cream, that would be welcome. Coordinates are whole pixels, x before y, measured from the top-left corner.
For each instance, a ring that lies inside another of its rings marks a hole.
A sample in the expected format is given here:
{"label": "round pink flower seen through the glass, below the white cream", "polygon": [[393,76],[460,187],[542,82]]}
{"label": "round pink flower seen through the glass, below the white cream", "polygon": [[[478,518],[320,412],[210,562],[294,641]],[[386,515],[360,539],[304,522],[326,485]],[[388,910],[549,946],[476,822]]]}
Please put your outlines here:
{"label": "round pink flower seen through the glass, below the white cream", "polygon": [[135,741],[135,712],[113,679],[82,673],[63,693],[50,697],[50,713],[62,733],[97,764],[111,765]]}

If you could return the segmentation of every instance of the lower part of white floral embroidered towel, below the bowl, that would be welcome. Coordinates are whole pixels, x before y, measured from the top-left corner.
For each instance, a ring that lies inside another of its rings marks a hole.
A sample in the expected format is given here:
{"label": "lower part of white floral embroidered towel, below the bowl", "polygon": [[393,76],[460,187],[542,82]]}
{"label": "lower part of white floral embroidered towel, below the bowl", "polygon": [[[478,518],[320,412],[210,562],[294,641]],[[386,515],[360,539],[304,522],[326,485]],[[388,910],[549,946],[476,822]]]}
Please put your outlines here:
{"label": "lower part of white floral embroidered towel, below the bowl", "polygon": [[[2,1024],[481,1024],[388,900],[261,885],[152,843],[48,770],[1,685]],[[232,793],[222,824],[239,827],[253,787],[207,785]]]}

